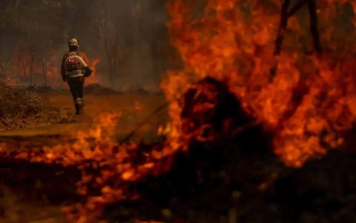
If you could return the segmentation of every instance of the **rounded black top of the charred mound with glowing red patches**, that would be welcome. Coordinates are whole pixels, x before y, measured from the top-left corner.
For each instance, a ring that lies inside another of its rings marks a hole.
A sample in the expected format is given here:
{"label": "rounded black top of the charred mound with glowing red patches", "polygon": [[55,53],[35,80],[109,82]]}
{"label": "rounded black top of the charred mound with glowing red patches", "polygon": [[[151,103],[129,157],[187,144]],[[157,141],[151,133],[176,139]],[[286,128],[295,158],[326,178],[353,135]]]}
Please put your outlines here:
{"label": "rounded black top of the charred mound with glowing red patches", "polygon": [[232,137],[239,132],[236,128],[254,124],[227,85],[211,77],[187,90],[182,108],[183,133],[201,141]]}

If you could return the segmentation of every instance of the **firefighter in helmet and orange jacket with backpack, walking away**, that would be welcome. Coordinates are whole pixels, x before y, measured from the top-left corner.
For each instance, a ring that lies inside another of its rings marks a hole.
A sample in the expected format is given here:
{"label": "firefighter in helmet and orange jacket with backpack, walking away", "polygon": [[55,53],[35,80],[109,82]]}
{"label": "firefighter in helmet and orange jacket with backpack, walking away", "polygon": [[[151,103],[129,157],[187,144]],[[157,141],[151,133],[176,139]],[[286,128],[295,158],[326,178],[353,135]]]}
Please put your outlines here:
{"label": "firefighter in helmet and orange jacket with backpack, walking away", "polygon": [[69,85],[70,93],[73,95],[75,114],[83,114],[84,79],[93,72],[88,67],[88,58],[84,52],[78,51],[79,41],[72,38],[68,42],[69,52],[63,56],[61,76]]}

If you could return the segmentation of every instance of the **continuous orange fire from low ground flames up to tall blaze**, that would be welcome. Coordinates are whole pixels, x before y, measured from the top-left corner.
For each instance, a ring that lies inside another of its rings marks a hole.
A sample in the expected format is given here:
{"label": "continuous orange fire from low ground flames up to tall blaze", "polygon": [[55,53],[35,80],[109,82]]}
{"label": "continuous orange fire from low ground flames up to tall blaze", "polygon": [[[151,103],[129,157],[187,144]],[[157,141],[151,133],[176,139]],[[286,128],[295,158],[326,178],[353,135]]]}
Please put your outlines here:
{"label": "continuous orange fire from low ground flames up to tall blaze", "polygon": [[[73,164],[82,171],[78,193],[89,198],[85,204],[64,208],[68,219],[78,223],[95,222],[106,204],[128,199],[125,182],[169,170],[172,155],[189,149],[187,139],[193,137],[184,134],[182,105],[178,99],[192,83],[204,77],[226,82],[244,109],[266,131],[274,133],[274,152],[287,166],[300,167],[310,157],[325,154],[321,142],[337,147],[344,141],[343,134],[353,127],[356,119],[354,56],[339,61],[339,52],[322,56],[310,53],[311,41],[305,46],[298,42],[299,37],[310,39],[308,27],[299,17],[292,16],[282,53],[274,57],[279,0],[271,0],[268,7],[254,0],[207,0],[200,18],[193,17],[194,10],[186,2],[189,1],[172,0],[167,5],[169,35],[182,58],[183,68],[168,71],[161,85],[171,117],[169,124],[158,130],[159,135],[167,136],[163,144],[154,145],[145,153],[135,143],[118,145],[112,136],[120,114],[102,114],[93,129],[77,134],[74,143],[46,147],[43,154],[24,151],[17,155],[18,159],[32,162]],[[347,1],[318,2],[320,22],[326,24],[335,17],[336,6]],[[356,3],[348,2],[356,11]],[[353,18],[352,23],[356,24],[355,21]],[[331,31],[334,28],[332,25],[325,28],[321,40],[337,48],[335,33]],[[355,34],[350,33],[352,38],[347,38],[350,46],[356,46]],[[271,68],[277,62],[276,76],[269,81]],[[93,70],[95,64],[93,61]],[[97,74],[92,78],[100,80]],[[141,109],[140,103],[135,102],[133,110]],[[94,138],[94,142],[88,138]],[[141,159],[136,159],[137,154]],[[89,170],[99,167],[96,173]],[[99,188],[101,194],[89,196],[89,186]]]}

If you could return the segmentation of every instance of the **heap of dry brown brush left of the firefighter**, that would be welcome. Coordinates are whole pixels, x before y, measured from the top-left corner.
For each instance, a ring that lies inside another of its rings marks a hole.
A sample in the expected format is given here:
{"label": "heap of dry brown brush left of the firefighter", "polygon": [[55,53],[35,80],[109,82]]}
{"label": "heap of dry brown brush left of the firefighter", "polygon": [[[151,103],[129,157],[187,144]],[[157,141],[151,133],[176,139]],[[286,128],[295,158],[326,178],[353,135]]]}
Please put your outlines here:
{"label": "heap of dry brown brush left of the firefighter", "polygon": [[5,128],[25,127],[31,122],[62,123],[65,111],[46,105],[36,95],[0,84],[0,120]]}

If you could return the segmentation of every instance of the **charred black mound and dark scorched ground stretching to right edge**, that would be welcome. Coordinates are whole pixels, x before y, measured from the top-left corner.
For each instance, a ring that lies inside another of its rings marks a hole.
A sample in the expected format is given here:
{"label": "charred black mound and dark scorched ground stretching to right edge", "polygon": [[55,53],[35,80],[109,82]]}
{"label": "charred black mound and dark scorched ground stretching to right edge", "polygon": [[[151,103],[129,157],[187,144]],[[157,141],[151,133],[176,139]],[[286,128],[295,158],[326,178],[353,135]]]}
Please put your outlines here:
{"label": "charred black mound and dark scorched ground stretching to right edge", "polygon": [[[200,140],[189,138],[189,151],[175,154],[167,173],[131,185],[140,199],[108,206],[103,218],[228,222],[236,215],[238,222],[250,223],[355,221],[356,176],[350,171],[355,154],[334,150],[302,168],[288,168],[270,152],[270,133],[249,125],[253,118],[224,83],[206,78],[187,91],[184,102],[185,133],[207,124],[209,131],[201,131]],[[226,120],[230,131],[223,127]],[[231,134],[242,126],[247,127]]]}

